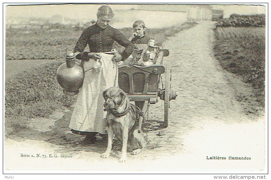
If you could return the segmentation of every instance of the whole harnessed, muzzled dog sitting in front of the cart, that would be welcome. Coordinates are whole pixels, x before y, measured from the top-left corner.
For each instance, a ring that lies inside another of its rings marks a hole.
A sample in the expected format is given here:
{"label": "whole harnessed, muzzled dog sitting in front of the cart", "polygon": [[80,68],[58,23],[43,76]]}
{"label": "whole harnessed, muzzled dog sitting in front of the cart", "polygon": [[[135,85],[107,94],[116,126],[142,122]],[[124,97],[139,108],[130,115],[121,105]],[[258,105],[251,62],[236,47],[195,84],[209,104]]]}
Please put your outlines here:
{"label": "whole harnessed, muzzled dog sitting in front of the cart", "polygon": [[[106,119],[109,124],[108,144],[106,151],[101,155],[103,158],[110,156],[113,134],[122,143],[122,156],[120,163],[126,161],[127,151],[136,155],[145,147],[143,132],[138,133],[136,120],[143,116],[140,109],[130,104],[126,93],[118,87],[110,87],[103,92],[104,111],[107,111]],[[140,112],[140,113],[139,113]],[[141,115],[140,115],[141,114]]]}

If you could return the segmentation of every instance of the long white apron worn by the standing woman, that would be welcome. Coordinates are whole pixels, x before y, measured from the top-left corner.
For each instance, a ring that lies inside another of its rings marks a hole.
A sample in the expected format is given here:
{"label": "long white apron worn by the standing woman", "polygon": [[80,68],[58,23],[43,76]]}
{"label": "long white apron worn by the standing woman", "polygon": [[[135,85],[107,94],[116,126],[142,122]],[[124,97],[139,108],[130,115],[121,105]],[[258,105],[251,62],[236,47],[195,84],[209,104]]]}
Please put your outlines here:
{"label": "long white apron worn by the standing woman", "polygon": [[93,59],[84,61],[84,81],[78,94],[69,128],[82,132],[106,134],[103,91],[118,86],[118,65],[112,61],[112,54],[98,53],[102,57],[101,71],[92,67]]}

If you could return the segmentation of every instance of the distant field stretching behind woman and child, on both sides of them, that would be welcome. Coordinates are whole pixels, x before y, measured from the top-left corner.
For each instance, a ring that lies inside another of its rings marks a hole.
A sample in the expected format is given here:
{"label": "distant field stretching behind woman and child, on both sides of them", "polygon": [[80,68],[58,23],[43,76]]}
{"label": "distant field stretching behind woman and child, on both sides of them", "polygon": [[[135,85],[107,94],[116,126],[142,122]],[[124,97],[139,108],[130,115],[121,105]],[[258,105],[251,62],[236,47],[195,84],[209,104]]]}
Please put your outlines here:
{"label": "distant field stretching behind woman and child, on both sides of them", "polygon": [[[196,23],[184,23],[175,27],[147,29],[146,35],[157,37],[164,42],[167,37]],[[63,59],[65,49],[75,46],[83,29],[62,25],[53,29],[7,29],[6,60],[12,59]],[[130,37],[132,28],[120,29],[125,37]]]}

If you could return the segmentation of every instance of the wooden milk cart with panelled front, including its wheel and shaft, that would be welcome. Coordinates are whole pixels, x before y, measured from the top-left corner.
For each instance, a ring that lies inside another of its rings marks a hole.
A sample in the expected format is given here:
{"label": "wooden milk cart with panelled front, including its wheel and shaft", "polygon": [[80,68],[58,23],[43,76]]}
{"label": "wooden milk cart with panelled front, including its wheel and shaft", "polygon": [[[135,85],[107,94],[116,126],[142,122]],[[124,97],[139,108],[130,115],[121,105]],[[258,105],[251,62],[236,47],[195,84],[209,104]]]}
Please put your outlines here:
{"label": "wooden milk cart with panelled front, including its wheel and shaft", "polygon": [[[168,50],[158,53],[155,65],[143,67],[132,64],[124,64],[118,67],[119,87],[128,95],[130,101],[141,109],[146,117],[149,103],[158,102],[158,97],[164,100],[164,127],[168,126],[169,101],[176,98],[176,93],[171,90],[171,66],[163,65],[163,57],[168,56]],[[165,73],[162,81],[161,74]],[[145,118],[146,119],[146,118]],[[139,133],[143,117],[139,120]]]}

